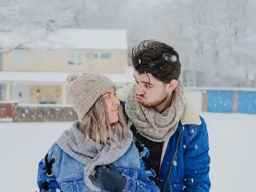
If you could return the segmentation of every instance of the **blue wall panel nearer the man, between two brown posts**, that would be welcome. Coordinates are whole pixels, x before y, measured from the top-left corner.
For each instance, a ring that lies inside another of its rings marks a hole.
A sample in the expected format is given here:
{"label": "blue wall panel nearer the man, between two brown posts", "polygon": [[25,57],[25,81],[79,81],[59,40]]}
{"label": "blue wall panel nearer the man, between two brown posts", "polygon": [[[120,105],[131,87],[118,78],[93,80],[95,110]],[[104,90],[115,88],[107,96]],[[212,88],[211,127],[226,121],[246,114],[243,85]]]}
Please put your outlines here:
{"label": "blue wall panel nearer the man, between two brown posts", "polygon": [[232,113],[233,91],[208,90],[208,112]]}

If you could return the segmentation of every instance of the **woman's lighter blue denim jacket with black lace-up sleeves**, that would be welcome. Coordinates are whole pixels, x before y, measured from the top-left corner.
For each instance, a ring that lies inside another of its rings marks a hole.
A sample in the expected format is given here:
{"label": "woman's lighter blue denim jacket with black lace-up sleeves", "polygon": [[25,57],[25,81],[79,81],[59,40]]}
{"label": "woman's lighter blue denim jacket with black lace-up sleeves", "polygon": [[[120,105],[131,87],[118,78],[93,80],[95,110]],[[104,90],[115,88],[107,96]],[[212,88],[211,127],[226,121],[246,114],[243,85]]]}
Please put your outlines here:
{"label": "woman's lighter blue denim jacket with black lace-up sleeves", "polygon": [[[47,154],[47,160],[42,159],[38,165],[38,187],[46,186],[45,189],[41,189],[42,192],[47,190],[58,192],[58,189],[61,192],[92,192],[84,182],[85,165],[66,154],[56,143]],[[143,156],[147,158],[148,154],[147,148],[139,154],[133,140],[126,153],[114,162],[116,168],[127,178],[124,192],[160,192],[155,182],[148,179],[149,176],[155,176],[155,172],[146,171],[144,162],[141,160]],[[52,162],[50,175],[46,170],[48,162]],[[108,191],[104,190],[104,192]]]}

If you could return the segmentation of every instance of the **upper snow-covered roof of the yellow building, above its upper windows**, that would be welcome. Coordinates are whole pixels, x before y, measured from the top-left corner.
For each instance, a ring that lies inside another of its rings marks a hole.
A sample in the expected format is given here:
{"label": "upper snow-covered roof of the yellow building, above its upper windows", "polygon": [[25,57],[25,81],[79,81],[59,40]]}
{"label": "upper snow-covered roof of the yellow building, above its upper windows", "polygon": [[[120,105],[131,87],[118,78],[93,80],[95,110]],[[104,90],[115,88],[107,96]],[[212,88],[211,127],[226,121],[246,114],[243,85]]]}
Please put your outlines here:
{"label": "upper snow-covered roof of the yellow building, above its upper windows", "polygon": [[[127,50],[126,30],[123,29],[78,29],[59,28],[47,32],[37,30],[26,36],[19,34],[0,34],[12,44],[22,44],[20,48],[29,49],[71,49],[71,50]],[[12,45],[13,46],[13,45]]]}

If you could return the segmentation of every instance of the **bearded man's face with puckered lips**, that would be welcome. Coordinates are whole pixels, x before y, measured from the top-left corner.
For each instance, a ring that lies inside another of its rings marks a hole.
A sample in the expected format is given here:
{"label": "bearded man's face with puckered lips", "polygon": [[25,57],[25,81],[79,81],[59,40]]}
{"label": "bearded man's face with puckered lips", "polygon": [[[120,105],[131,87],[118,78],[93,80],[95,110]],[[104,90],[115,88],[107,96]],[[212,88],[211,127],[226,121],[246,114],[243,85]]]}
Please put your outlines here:
{"label": "bearded man's face with puckered lips", "polygon": [[151,74],[139,74],[134,71],[136,81],[136,96],[145,107],[154,108],[164,102],[168,97],[170,84],[164,84]]}

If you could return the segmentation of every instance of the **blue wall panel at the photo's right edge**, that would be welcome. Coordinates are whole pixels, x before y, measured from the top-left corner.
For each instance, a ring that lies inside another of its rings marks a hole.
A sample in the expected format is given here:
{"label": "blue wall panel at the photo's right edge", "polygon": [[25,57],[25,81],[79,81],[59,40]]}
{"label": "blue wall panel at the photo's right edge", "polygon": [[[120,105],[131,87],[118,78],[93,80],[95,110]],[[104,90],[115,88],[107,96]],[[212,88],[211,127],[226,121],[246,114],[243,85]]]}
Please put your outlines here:
{"label": "blue wall panel at the photo's right edge", "polygon": [[237,92],[237,112],[256,114],[256,92]]}

